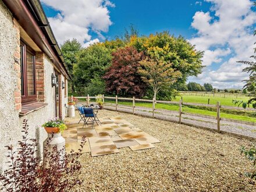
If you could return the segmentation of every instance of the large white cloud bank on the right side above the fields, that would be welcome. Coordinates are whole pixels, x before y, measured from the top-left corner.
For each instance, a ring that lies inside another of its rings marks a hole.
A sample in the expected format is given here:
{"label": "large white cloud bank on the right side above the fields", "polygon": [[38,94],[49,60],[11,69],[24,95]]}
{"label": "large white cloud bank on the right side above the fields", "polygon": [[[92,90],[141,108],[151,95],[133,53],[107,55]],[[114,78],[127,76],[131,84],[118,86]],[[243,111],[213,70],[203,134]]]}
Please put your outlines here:
{"label": "large white cloud bank on the right side above the fields", "polygon": [[[205,1],[212,3],[211,10],[196,12],[191,23],[197,34],[190,41],[197,49],[205,51],[203,63],[208,66],[196,80],[209,81],[220,88],[241,88],[241,80],[248,74],[241,73],[244,66],[236,61],[248,60],[253,55],[253,25],[256,22],[256,13],[251,10],[253,4],[250,0]],[[216,68],[212,65],[218,63],[221,63],[219,69],[211,70],[211,67]]]}

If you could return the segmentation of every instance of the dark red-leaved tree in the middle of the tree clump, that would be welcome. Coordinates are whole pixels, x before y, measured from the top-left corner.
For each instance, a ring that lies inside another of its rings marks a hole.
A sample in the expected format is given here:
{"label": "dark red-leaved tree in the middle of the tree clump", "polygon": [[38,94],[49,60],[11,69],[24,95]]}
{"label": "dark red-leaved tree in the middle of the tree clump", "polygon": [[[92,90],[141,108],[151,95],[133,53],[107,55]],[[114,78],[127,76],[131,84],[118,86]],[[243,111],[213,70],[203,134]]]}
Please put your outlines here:
{"label": "dark red-leaved tree in the middle of the tree clump", "polygon": [[134,47],[126,47],[113,52],[112,56],[112,65],[103,77],[106,91],[111,94],[142,97],[147,84],[141,80],[137,68],[144,54]]}

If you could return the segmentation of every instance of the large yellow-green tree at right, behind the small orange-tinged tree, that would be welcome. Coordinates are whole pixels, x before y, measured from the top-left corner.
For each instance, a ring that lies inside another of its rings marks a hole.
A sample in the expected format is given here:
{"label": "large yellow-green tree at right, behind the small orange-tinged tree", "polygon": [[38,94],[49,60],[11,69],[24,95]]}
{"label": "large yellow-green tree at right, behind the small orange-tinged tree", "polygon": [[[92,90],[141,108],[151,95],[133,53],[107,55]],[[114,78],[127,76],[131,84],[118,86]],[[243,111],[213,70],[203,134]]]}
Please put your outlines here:
{"label": "large yellow-green tree at right, behind the small orange-tinged tree", "polygon": [[197,51],[185,38],[176,38],[167,31],[149,37],[131,37],[129,45],[145,52],[150,59],[172,63],[173,70],[182,74],[176,83],[186,83],[187,77],[197,76],[204,67],[201,60],[204,52]]}

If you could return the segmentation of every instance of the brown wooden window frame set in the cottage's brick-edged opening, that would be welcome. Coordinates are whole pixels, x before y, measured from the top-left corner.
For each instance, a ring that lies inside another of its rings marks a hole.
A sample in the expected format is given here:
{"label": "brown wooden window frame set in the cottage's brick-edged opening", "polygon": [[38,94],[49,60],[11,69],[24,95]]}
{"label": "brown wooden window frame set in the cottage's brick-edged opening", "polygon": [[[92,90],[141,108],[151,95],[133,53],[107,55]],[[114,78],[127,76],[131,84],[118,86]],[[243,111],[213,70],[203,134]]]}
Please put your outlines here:
{"label": "brown wooden window frame set in the cottage's brick-edged opening", "polygon": [[[34,60],[34,95],[28,95],[27,89],[27,55],[26,52],[29,52],[33,55]],[[31,102],[37,101],[37,90],[36,90],[36,79],[35,79],[35,51],[20,40],[20,65],[21,65],[21,74],[22,74],[22,104],[28,104]]]}

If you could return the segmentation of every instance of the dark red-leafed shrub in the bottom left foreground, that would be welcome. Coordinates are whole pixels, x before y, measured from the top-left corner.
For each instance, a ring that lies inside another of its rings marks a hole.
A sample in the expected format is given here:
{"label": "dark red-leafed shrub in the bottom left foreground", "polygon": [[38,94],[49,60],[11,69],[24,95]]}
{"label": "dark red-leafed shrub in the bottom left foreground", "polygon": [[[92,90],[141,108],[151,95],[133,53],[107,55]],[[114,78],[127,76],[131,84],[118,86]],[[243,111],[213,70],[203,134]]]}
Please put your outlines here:
{"label": "dark red-leafed shrub in the bottom left foreground", "polygon": [[[65,159],[60,159],[61,151],[57,150],[57,146],[53,150],[49,150],[49,138],[46,150],[44,151],[44,162],[36,157],[37,141],[29,140],[27,120],[23,122],[22,141],[19,141],[17,151],[13,150],[13,146],[6,146],[9,151],[8,158],[10,161],[9,169],[0,175],[0,191],[70,191],[77,184],[81,184],[79,179],[81,163],[78,160],[85,141],[85,137],[81,142],[79,152],[71,151],[65,154]],[[47,166],[45,166],[47,163]]]}

